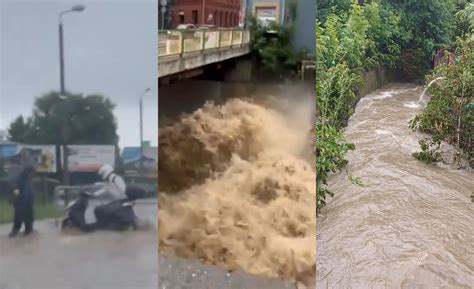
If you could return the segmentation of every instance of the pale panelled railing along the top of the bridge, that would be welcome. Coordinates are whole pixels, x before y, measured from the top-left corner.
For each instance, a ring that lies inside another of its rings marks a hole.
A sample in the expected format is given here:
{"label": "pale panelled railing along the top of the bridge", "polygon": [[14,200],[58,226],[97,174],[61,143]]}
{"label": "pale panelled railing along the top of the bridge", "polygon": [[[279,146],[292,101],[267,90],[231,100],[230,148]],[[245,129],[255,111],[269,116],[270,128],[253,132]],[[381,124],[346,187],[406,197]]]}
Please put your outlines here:
{"label": "pale panelled railing along the top of the bridge", "polygon": [[242,29],[160,30],[158,57],[240,47],[249,42],[250,32]]}

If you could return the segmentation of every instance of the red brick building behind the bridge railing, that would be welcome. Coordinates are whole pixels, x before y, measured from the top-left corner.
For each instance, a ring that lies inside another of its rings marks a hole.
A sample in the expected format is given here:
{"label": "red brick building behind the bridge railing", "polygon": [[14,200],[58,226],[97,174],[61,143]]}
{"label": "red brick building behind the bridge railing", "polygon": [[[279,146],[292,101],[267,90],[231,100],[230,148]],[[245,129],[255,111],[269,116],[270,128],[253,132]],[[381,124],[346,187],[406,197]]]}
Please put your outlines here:
{"label": "red brick building behind the bridge railing", "polygon": [[172,7],[172,26],[205,24],[236,27],[239,25],[240,7],[241,0],[176,0]]}

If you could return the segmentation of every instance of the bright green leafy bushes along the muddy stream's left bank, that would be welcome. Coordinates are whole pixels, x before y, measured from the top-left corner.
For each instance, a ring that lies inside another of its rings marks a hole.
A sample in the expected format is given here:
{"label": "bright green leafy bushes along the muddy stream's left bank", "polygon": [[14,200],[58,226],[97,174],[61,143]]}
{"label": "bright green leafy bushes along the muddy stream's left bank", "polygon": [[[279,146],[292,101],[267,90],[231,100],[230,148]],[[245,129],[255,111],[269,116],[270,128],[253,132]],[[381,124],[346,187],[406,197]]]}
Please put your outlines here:
{"label": "bright green leafy bushes along the muddy stream's left bank", "polygon": [[[330,2],[330,1],[329,1]],[[401,42],[401,17],[391,6],[378,3],[361,6],[336,1],[326,7],[324,22],[316,24],[316,123],[317,209],[333,196],[327,187],[329,174],[341,171],[345,154],[355,147],[341,131],[357,103],[361,73],[375,67],[396,67]],[[330,11],[330,12],[329,12]],[[352,179],[355,184],[362,184]]]}

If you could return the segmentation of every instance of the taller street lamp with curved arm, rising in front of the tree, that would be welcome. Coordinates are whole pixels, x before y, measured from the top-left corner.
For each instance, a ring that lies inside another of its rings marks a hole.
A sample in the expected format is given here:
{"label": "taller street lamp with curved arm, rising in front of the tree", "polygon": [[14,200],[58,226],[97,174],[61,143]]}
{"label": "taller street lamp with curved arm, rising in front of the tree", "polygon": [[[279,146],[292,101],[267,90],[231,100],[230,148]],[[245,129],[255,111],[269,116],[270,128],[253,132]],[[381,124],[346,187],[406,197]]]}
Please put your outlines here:
{"label": "taller street lamp with curved arm, rising in front of the tree", "polygon": [[[71,12],[82,12],[86,9],[84,5],[74,5],[71,9],[65,10],[59,13],[59,79],[61,85],[60,98],[65,100],[66,97],[66,88],[64,84],[64,46],[63,46],[63,15]],[[68,119],[67,111],[64,108],[63,113],[63,122],[61,136],[63,141],[63,182],[65,185],[69,185],[69,168],[68,168],[68,152],[67,152],[67,130],[68,130]]]}

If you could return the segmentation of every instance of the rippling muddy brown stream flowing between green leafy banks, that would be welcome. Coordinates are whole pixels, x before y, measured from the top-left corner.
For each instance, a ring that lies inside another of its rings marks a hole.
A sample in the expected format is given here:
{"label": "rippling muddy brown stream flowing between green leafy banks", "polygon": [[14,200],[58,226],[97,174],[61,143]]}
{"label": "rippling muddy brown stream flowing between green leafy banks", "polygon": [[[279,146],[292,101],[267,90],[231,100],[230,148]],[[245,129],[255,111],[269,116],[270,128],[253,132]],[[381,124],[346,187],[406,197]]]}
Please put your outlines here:
{"label": "rippling muddy brown stream flowing between green leafy banks", "polygon": [[423,88],[394,84],[363,98],[346,130],[349,172],[318,217],[317,288],[473,288],[474,173],[415,160],[408,121]]}

